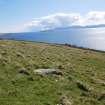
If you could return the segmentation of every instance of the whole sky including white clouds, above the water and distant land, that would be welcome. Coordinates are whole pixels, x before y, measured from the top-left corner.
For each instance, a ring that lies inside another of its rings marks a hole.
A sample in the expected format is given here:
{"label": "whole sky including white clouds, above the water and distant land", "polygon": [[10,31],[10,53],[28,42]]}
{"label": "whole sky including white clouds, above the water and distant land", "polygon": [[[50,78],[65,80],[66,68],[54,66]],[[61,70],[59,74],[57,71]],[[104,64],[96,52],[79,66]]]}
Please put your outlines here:
{"label": "whole sky including white clouds, above the water and distant land", "polygon": [[105,23],[105,0],[0,0],[0,33]]}

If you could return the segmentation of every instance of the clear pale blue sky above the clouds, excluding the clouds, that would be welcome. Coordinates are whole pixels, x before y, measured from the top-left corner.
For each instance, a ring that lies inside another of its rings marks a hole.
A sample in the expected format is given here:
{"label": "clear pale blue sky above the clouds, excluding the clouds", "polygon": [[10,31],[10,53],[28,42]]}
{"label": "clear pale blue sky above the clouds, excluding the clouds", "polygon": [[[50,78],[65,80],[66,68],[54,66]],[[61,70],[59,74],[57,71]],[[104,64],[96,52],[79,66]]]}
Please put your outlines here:
{"label": "clear pale blue sky above the clouds, excluding the clouds", "polygon": [[35,18],[55,13],[105,11],[105,0],[0,0],[0,32],[15,32]]}

